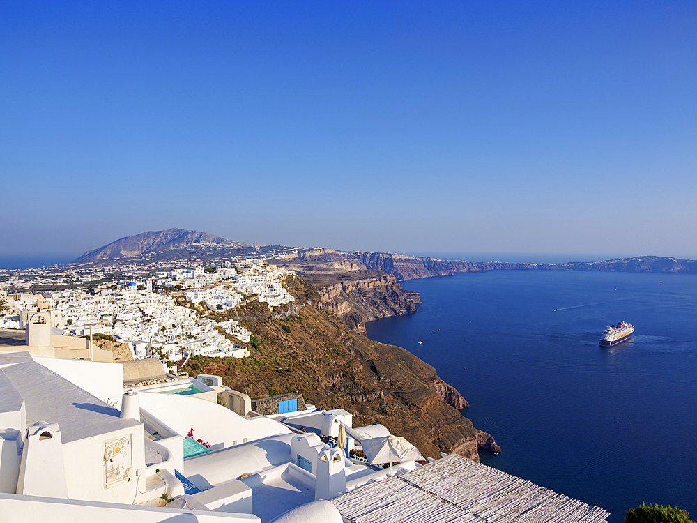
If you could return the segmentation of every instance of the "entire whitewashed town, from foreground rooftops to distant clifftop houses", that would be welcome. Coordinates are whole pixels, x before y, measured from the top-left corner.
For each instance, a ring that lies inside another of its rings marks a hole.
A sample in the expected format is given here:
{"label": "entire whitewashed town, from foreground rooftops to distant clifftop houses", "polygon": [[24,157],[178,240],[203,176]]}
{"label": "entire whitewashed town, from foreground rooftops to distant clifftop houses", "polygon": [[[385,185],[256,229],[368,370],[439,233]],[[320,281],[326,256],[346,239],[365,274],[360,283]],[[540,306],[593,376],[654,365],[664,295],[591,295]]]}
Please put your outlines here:
{"label": "entire whitewashed town, from foreground rooftops to distant clifftop houses", "polygon": [[195,356],[249,357],[256,340],[235,309],[291,304],[293,276],[259,258],[0,271],[5,520],[606,522],[602,508],[424,456],[302,393],[252,398],[180,372]]}

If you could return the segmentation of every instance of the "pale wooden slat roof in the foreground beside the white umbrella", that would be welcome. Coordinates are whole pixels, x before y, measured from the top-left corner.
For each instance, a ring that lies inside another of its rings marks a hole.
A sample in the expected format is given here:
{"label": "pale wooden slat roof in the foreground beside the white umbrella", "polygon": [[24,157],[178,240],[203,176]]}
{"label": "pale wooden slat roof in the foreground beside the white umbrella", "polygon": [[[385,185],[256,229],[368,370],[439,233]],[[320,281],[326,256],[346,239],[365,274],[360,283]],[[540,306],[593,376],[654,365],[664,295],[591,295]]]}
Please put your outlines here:
{"label": "pale wooden slat roof in the foreground beside the white umbrella", "polygon": [[606,523],[609,515],[457,454],[332,503],[354,523]]}

